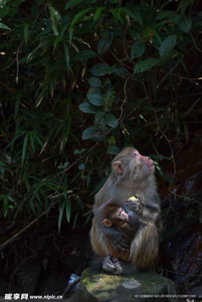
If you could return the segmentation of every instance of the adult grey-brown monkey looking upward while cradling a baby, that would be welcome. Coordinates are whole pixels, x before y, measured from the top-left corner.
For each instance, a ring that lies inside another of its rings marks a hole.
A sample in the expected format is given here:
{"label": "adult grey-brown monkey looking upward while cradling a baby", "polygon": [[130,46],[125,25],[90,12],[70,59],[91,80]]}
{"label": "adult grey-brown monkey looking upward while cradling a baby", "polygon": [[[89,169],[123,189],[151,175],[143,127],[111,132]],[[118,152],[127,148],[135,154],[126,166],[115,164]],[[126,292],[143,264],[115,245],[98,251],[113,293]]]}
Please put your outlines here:
{"label": "adult grey-brown monkey looking upward while cradling a baby", "polygon": [[[154,178],[154,162],[140,155],[136,149],[123,149],[111,167],[111,175],[95,196],[90,236],[94,251],[102,258],[95,259],[94,266],[116,275],[128,274],[147,268],[157,257],[162,231],[160,198]],[[131,196],[136,196],[136,199],[127,200]],[[120,232],[113,227],[105,227],[101,221],[100,210],[111,201],[124,208],[130,215],[128,223],[137,230],[131,243],[130,263],[114,263],[110,256],[108,240],[118,252],[129,248]]]}

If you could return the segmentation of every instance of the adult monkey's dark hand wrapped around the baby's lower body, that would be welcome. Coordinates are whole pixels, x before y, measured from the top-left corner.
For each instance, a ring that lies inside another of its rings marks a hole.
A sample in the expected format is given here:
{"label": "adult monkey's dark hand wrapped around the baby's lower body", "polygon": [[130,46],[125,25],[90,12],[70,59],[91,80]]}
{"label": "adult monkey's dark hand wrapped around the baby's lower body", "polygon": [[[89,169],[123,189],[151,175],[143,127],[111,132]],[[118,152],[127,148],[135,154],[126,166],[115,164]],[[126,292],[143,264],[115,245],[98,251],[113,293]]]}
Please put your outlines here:
{"label": "adult monkey's dark hand wrapped around the baby's lower body", "polygon": [[[110,229],[110,228],[108,228]],[[124,239],[124,235],[111,228],[113,232],[107,234],[110,245],[115,249],[116,252],[126,252],[126,249],[130,248],[130,243]]]}

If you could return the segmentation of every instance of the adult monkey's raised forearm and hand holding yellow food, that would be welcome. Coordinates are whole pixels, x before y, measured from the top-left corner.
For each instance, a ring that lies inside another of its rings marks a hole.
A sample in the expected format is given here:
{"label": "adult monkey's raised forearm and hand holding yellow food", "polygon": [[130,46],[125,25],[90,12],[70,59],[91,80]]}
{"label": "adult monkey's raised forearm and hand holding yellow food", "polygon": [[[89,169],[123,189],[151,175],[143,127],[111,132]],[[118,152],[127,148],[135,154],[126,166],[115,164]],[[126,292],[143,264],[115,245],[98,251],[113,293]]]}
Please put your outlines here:
{"label": "adult monkey's raised forearm and hand holding yellow food", "polygon": [[135,212],[140,217],[140,220],[143,223],[149,221],[154,222],[159,218],[160,207],[158,205],[156,205],[156,207],[144,205],[138,197],[135,199],[128,199],[126,205],[129,210]]}

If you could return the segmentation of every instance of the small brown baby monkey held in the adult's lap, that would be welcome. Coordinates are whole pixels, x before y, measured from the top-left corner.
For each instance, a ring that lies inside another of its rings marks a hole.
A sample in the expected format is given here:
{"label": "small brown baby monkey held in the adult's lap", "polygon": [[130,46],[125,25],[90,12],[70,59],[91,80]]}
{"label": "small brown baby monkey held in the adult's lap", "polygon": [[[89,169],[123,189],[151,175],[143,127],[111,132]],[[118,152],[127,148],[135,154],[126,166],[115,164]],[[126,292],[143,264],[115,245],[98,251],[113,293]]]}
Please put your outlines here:
{"label": "small brown baby monkey held in the adult's lap", "polygon": [[[105,204],[101,209],[100,217],[102,223],[105,226],[114,227],[118,232],[124,235],[125,240],[131,243],[135,236],[136,231],[129,226],[126,221],[128,221],[128,214],[125,213],[124,209],[115,201]],[[127,249],[126,252],[118,253],[110,244],[108,240],[111,255],[114,257],[113,262],[118,260],[129,262],[131,249]]]}

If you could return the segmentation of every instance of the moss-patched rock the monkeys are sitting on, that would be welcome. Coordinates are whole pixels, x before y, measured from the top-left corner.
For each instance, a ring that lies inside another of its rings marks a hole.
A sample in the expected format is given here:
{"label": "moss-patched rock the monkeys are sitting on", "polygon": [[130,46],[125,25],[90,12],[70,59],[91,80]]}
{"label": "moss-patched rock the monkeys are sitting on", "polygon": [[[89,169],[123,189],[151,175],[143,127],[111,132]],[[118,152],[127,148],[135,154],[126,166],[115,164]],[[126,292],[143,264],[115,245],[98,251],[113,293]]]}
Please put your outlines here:
{"label": "moss-patched rock the monkeys are sitting on", "polygon": [[175,297],[178,294],[175,283],[152,270],[114,276],[86,268],[81,274],[76,292],[84,302],[178,301]]}

